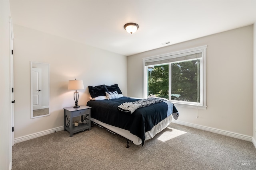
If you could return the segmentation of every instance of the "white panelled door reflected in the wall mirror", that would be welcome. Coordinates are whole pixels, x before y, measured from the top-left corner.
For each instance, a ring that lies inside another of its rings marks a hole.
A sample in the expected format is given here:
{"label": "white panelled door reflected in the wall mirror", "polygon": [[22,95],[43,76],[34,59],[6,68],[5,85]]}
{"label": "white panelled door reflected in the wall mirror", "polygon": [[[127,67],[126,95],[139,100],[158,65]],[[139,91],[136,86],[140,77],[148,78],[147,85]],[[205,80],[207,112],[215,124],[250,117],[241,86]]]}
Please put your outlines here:
{"label": "white panelled door reflected in the wall mirror", "polygon": [[42,69],[32,68],[33,110],[42,109]]}

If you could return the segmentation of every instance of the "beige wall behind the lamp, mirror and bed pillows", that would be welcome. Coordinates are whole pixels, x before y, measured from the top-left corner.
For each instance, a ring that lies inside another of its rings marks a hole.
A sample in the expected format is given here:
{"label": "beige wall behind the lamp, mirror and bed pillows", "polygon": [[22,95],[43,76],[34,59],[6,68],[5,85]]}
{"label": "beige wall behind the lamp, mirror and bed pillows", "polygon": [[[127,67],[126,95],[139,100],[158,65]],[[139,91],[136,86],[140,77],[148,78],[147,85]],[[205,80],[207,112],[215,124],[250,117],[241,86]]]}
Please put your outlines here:
{"label": "beige wall behind the lamp, mirror and bed pillows", "polygon": [[[63,107],[74,106],[68,80],[84,81],[79,105],[89,100],[88,86],[118,84],[127,95],[127,57],[14,24],[14,141],[63,126]],[[30,61],[50,64],[50,116],[30,119]]]}

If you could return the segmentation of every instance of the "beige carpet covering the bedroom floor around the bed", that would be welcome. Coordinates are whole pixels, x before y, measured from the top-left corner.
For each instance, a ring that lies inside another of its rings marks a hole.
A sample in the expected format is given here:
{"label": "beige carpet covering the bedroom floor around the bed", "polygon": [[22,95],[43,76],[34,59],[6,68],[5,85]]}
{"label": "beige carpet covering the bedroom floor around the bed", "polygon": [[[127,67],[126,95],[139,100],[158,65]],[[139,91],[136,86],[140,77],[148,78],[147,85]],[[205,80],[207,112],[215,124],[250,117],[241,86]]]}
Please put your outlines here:
{"label": "beige carpet covering the bedroom floor around the bed", "polygon": [[171,123],[145,145],[98,126],[52,133],[13,147],[12,170],[255,170],[251,142]]}

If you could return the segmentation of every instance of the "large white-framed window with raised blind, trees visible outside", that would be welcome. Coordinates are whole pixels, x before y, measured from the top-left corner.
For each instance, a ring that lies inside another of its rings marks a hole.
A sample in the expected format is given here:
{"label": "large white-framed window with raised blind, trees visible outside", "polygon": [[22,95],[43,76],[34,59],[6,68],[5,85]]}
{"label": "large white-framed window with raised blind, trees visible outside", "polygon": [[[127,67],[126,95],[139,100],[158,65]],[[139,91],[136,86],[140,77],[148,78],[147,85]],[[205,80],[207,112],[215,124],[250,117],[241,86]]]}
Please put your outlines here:
{"label": "large white-framed window with raised blind, trees visible outside", "polygon": [[143,59],[144,98],[206,109],[206,46]]}

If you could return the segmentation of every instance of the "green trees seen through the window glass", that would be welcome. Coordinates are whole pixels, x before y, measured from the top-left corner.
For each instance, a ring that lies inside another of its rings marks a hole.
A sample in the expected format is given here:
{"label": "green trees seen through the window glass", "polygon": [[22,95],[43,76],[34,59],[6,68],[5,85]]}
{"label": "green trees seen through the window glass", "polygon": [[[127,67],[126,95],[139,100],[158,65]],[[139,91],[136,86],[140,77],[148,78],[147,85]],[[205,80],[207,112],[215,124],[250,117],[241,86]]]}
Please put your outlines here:
{"label": "green trees seen through the window glass", "polygon": [[199,103],[200,59],[148,66],[148,96]]}

